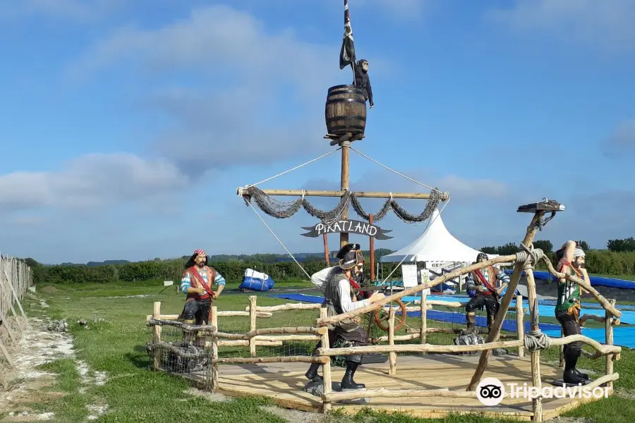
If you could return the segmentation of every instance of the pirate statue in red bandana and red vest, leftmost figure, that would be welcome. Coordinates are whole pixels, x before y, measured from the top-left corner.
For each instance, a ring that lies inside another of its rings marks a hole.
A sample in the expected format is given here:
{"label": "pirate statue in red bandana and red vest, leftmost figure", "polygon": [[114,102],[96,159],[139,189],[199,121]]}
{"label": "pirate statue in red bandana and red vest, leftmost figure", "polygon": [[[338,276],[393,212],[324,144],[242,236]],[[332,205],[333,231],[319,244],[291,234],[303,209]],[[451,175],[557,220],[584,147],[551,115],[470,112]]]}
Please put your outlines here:
{"label": "pirate statue in red bandana and red vest, leftmost figure", "polygon": [[[212,285],[218,290],[213,291]],[[217,299],[225,286],[225,279],[207,266],[207,253],[196,250],[185,265],[181,279],[181,292],[187,295],[179,319],[188,324],[209,324],[212,301]]]}

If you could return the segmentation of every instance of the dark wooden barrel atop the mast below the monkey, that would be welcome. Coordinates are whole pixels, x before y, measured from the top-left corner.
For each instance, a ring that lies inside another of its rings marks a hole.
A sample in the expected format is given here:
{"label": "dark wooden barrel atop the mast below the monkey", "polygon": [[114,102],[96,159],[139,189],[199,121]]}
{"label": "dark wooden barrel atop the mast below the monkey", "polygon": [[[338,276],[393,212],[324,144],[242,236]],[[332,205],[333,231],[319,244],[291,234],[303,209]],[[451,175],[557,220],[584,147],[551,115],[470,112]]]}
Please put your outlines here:
{"label": "dark wooden barrel atop the mast below the monkey", "polygon": [[366,128],[366,90],[355,85],[330,87],[325,106],[327,131],[333,135],[363,134]]}

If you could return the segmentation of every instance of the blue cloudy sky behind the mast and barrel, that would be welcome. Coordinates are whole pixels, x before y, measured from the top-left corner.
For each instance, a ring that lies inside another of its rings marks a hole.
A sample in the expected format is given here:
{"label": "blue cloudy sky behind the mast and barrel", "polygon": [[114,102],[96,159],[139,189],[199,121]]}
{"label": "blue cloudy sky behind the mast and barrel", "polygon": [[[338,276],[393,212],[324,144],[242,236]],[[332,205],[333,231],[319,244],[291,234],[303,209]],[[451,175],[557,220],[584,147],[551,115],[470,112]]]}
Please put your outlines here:
{"label": "blue cloudy sky behind the mast and barrel", "polygon": [[[449,192],[452,235],[476,249],[519,243],[531,216],[517,207],[545,197],[566,209],[536,239],[604,248],[635,235],[635,2],[349,8],[375,101],[353,147]],[[334,150],[327,90],[352,81],[339,69],[343,12],[341,0],[0,0],[2,255],[320,252],[321,238],[300,235],[317,223],[304,210],[256,207],[279,242],[236,188]],[[334,152],[258,187],[338,190],[339,172]],[[430,192],[356,152],[350,178],[351,190]],[[375,247],[397,250],[427,223],[389,212],[377,224],[394,238]]]}

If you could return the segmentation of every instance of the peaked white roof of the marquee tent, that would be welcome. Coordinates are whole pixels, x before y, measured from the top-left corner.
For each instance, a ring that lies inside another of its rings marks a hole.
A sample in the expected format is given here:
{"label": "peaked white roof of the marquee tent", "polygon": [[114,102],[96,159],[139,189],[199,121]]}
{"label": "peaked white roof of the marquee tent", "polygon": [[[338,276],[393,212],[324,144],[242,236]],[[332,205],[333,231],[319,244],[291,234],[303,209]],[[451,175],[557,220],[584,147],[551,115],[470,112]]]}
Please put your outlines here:
{"label": "peaked white roof of the marquee tent", "polygon": [[[468,247],[452,236],[441,220],[440,212],[435,210],[430,217],[430,225],[425,232],[416,240],[397,252],[380,258],[380,262],[426,262],[428,269],[435,267],[435,264],[448,262],[468,263],[476,261],[476,256],[480,251]],[[488,255],[488,257],[498,257],[498,255]]]}

